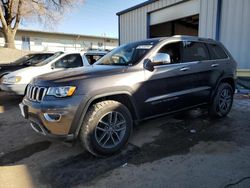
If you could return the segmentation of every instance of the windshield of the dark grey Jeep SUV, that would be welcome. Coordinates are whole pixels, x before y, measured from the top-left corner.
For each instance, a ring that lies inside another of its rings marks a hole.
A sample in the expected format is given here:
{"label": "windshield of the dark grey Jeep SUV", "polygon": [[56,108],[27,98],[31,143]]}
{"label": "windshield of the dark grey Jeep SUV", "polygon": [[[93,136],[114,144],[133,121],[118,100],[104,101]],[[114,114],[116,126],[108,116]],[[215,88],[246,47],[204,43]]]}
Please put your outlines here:
{"label": "windshield of the dark grey Jeep SUV", "polygon": [[135,65],[159,40],[147,40],[122,45],[97,61],[96,65]]}

